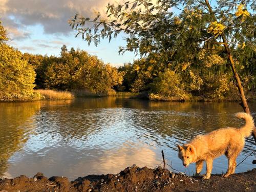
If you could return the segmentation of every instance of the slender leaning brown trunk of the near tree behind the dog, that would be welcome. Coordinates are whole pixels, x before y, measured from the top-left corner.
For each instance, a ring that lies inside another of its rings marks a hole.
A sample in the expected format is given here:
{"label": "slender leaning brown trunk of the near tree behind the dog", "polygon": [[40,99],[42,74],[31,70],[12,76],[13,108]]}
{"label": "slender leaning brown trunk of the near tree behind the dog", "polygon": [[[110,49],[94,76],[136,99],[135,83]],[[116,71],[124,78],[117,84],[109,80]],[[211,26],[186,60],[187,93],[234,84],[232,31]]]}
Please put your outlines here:
{"label": "slender leaning brown trunk of the near tree behind the dog", "polygon": [[[216,18],[214,12],[212,11],[212,9],[210,7],[210,4],[209,4],[208,0],[205,0],[205,4],[206,4],[206,6],[207,6],[207,8],[208,8],[212,18],[217,21],[217,18]],[[250,114],[249,106],[247,104],[247,100],[246,100],[245,95],[244,95],[244,89],[243,89],[240,77],[239,77],[239,75],[237,73],[236,66],[234,65],[234,61],[233,61],[233,58],[232,58],[232,55],[231,55],[231,51],[230,51],[230,49],[228,47],[228,44],[227,44],[226,36],[224,34],[222,34],[221,37],[222,37],[222,40],[223,40],[223,45],[225,47],[225,50],[226,50],[229,62],[230,62],[230,67],[232,69],[234,78],[236,79],[236,82],[237,82],[237,87],[238,87],[238,90],[239,90],[239,95],[240,95],[240,98],[241,98],[241,101],[242,101],[240,105],[243,107],[243,110],[244,110],[245,113]],[[254,141],[256,143],[256,128],[255,127],[254,127],[254,129],[252,131],[252,136],[253,136]]]}

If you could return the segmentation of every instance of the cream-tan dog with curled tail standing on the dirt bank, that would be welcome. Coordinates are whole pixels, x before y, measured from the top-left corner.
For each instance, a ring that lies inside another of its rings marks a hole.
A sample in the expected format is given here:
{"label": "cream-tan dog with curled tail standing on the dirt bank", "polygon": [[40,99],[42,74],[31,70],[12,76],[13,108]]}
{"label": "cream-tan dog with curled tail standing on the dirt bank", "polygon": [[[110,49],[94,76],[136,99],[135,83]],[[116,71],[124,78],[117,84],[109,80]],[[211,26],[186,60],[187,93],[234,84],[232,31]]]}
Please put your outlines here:
{"label": "cream-tan dog with curled tail standing on the dirt bank", "polygon": [[198,135],[182,146],[178,144],[178,156],[183,165],[187,167],[190,163],[196,163],[196,175],[199,176],[203,162],[206,161],[206,174],[203,179],[209,179],[213,160],[225,155],[228,159],[228,169],[224,177],[233,174],[237,166],[236,159],[243,150],[245,138],[251,135],[254,127],[251,115],[237,113],[236,116],[245,120],[243,127],[215,130],[205,135]]}

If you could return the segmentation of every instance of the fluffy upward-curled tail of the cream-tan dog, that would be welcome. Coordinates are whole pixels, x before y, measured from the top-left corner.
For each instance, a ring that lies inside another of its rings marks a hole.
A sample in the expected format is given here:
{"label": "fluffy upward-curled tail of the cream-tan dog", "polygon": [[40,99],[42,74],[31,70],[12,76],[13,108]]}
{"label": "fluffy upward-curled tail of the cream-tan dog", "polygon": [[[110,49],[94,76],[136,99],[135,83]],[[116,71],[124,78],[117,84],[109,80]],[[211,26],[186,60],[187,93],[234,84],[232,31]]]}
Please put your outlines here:
{"label": "fluffy upward-curled tail of the cream-tan dog", "polygon": [[244,137],[249,137],[254,128],[254,121],[252,116],[244,112],[237,113],[236,116],[245,120],[245,125],[241,127],[239,131]]}

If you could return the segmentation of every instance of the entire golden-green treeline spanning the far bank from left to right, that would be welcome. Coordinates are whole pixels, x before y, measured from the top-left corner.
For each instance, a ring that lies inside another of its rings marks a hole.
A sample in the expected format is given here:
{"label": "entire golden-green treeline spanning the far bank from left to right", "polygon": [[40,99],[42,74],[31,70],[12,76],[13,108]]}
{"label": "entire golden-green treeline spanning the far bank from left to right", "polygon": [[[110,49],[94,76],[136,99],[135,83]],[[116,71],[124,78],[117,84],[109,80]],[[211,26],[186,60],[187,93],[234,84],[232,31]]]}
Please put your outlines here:
{"label": "entire golden-green treeline spanning the far bank from left to right", "polygon": [[[101,95],[115,90],[144,93],[143,96],[151,100],[239,99],[221,45],[187,52],[184,56],[188,61],[179,62],[162,50],[115,68],[86,51],[68,50],[65,45],[59,56],[22,54],[6,44],[6,34],[0,23],[0,100],[40,99],[35,89],[86,90]],[[246,46],[233,49],[239,53],[242,52],[239,49],[245,50]],[[255,63],[255,54],[246,62],[243,59],[235,62],[246,94],[253,96],[256,66],[251,63]]]}

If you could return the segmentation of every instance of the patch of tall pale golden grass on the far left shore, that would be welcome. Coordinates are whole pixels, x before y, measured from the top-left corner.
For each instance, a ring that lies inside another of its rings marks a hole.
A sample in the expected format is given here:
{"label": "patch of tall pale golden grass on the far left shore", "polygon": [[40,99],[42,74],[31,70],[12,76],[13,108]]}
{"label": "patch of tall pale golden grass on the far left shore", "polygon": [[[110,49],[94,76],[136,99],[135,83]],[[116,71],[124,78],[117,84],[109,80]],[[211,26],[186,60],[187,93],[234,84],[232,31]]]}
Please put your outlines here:
{"label": "patch of tall pale golden grass on the far left shore", "polygon": [[50,100],[65,100],[73,99],[74,95],[68,91],[54,91],[54,90],[36,90],[37,93]]}

